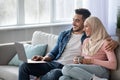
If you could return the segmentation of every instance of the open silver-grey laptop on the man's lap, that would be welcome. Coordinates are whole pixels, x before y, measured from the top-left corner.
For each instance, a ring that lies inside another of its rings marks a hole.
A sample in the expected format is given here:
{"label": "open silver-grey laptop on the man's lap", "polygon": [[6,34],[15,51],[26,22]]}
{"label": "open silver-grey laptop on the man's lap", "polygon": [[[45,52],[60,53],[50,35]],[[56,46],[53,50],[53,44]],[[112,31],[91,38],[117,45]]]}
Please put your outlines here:
{"label": "open silver-grey laptop on the man's lap", "polygon": [[22,43],[15,42],[15,48],[18,54],[19,60],[26,63],[46,63],[46,61],[33,61],[31,59],[27,59],[25,49]]}

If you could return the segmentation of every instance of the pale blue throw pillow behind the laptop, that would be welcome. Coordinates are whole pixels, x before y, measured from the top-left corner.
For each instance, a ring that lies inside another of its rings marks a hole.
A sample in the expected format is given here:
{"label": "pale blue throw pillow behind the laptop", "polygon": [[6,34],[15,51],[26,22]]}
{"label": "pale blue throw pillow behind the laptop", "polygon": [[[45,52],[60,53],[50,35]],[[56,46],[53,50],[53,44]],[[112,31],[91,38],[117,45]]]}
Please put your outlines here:
{"label": "pale blue throw pillow behind the laptop", "polygon": [[[31,59],[34,55],[44,56],[46,53],[47,44],[38,44],[38,45],[24,44],[24,49],[25,49],[27,58]],[[19,66],[21,63],[22,61],[18,59],[18,55],[16,54],[8,64]]]}

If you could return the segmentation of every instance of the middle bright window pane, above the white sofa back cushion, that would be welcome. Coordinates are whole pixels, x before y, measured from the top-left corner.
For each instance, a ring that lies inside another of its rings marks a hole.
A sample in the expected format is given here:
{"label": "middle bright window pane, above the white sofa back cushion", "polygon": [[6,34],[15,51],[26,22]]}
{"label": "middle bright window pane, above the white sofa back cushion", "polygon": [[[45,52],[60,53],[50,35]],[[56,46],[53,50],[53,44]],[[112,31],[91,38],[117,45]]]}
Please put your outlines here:
{"label": "middle bright window pane, above the white sofa back cushion", "polygon": [[50,0],[25,0],[25,24],[50,22]]}

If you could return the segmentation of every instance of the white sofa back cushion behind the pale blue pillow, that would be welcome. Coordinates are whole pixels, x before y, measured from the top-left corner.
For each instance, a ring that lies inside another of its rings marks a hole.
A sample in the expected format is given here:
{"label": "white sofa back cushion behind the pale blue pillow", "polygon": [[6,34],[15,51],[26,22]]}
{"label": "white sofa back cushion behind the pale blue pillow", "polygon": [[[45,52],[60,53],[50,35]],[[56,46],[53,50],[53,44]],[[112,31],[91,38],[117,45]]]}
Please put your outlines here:
{"label": "white sofa back cushion behind the pale blue pillow", "polygon": [[57,42],[57,35],[35,31],[32,36],[32,44],[48,44],[47,52],[50,52]]}

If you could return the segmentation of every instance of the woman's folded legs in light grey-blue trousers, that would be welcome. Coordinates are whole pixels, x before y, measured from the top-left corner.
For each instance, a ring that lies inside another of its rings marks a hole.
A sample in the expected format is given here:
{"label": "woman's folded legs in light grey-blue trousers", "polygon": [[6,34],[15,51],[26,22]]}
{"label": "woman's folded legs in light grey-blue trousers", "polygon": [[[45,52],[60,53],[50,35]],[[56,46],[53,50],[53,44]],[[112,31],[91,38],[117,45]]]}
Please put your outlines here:
{"label": "woman's folded legs in light grey-blue trousers", "polygon": [[62,73],[64,76],[69,76],[78,80],[91,80],[93,74],[95,74],[98,77],[108,78],[108,70],[96,65],[66,65],[62,69]]}

